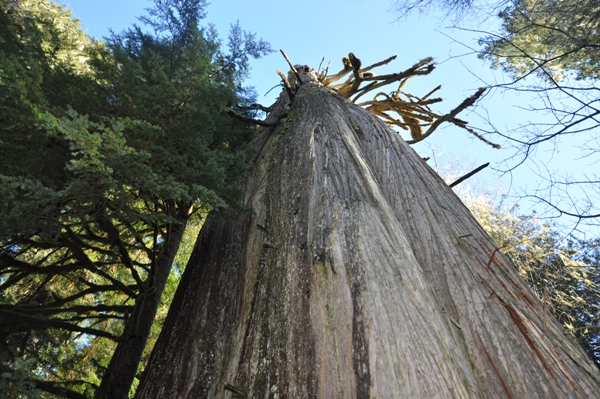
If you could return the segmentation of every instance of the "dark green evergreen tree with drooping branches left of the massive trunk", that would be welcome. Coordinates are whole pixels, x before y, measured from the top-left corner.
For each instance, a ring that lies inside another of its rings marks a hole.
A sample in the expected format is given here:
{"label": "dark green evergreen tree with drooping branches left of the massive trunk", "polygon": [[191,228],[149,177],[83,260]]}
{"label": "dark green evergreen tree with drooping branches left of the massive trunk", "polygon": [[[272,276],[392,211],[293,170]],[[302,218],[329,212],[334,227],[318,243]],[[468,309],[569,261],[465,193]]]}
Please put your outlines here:
{"label": "dark green evergreen tree with drooping branches left of the massive trunk", "polygon": [[123,397],[189,217],[239,192],[252,129],[224,110],[268,45],[236,25],[222,49],[203,1],[106,43],[55,3],[1,5],[2,371],[36,359],[37,388]]}

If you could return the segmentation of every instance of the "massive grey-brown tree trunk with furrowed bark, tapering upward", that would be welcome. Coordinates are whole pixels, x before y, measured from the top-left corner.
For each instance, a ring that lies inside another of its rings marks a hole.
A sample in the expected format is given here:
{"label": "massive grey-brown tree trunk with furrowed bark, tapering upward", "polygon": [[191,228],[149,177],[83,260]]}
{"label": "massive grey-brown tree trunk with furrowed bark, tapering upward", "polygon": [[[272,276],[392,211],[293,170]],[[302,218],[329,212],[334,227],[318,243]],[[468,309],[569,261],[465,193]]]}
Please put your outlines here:
{"label": "massive grey-brown tree trunk with furrowed bark, tapering upward", "polygon": [[591,398],[598,370],[450,188],[310,76],[212,214],[139,398]]}

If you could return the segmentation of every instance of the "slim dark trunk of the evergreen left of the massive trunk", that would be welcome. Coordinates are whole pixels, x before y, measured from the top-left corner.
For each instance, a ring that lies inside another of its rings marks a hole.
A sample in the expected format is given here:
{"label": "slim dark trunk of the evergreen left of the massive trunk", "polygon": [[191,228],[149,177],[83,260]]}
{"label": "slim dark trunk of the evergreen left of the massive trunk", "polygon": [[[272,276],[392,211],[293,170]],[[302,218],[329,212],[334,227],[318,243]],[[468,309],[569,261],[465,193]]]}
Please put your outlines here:
{"label": "slim dark trunk of the evergreen left of the massive trunk", "polygon": [[[182,211],[183,212],[183,211]],[[164,291],[171,267],[181,244],[187,216],[181,216],[174,222],[164,243],[165,249],[156,260],[155,273],[150,277],[146,292],[140,293],[135,301],[132,314],[125,324],[125,329],[110,359],[100,387],[96,391],[96,399],[126,399],[135,378],[160,297]]]}

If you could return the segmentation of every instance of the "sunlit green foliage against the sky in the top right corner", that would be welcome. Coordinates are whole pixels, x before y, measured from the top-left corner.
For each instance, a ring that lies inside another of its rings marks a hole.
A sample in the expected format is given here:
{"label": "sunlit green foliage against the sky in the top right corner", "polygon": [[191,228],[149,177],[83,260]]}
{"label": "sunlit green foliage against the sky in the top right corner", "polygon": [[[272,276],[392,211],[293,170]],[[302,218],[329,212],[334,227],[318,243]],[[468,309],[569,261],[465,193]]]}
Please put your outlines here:
{"label": "sunlit green foliage against the sky in the top right corner", "polygon": [[593,0],[516,0],[499,13],[501,33],[489,35],[482,57],[515,77],[598,79],[600,17]]}

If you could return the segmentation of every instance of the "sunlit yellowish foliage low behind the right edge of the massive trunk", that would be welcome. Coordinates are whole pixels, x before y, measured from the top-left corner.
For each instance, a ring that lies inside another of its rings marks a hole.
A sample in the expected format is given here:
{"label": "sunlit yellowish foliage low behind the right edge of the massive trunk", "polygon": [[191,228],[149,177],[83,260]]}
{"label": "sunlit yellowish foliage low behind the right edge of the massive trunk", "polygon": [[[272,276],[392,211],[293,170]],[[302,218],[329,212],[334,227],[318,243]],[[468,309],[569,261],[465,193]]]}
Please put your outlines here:
{"label": "sunlit yellowish foliage low behind the right edge of the massive trunk", "polygon": [[486,198],[467,205],[548,310],[600,367],[600,242],[568,242],[535,214],[496,207]]}

